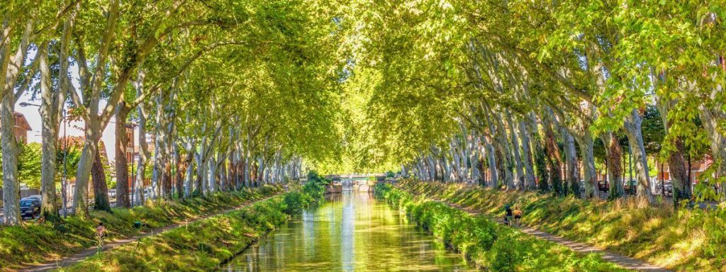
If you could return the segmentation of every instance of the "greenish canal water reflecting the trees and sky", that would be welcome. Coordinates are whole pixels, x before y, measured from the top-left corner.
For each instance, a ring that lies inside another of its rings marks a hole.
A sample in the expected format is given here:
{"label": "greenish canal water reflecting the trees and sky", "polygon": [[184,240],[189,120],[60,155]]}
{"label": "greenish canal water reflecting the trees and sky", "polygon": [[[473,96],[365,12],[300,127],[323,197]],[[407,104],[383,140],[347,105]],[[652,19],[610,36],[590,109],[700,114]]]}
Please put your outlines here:
{"label": "greenish canal water reflecting the trees and sky", "polygon": [[304,210],[220,271],[473,271],[367,192],[343,189]]}

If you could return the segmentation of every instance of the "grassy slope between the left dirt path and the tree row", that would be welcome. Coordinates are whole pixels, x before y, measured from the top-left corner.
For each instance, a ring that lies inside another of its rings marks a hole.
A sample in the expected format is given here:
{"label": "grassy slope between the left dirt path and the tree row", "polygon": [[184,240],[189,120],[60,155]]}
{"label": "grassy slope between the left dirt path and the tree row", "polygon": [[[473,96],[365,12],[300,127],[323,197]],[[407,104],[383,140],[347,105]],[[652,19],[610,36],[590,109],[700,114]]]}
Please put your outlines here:
{"label": "grassy slope between the left dirt path and the tree row", "polygon": [[72,255],[97,244],[95,228],[103,222],[110,239],[136,234],[134,222],[142,230],[219,213],[245,202],[263,199],[282,191],[278,186],[263,186],[235,192],[220,192],[183,201],[147,202],[131,209],[114,208],[113,213],[91,212],[91,219],[69,217],[60,224],[25,223],[24,226],[0,226],[0,270],[13,271],[23,263],[45,263]]}

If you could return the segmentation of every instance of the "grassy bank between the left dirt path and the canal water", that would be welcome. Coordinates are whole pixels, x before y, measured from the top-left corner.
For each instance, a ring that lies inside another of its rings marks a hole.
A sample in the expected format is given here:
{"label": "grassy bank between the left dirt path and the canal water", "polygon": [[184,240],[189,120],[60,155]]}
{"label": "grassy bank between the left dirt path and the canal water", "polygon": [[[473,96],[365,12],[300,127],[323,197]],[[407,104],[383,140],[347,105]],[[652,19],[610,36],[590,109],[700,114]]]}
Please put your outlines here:
{"label": "grassy bank between the left dirt path and the canal water", "polygon": [[211,271],[290,215],[317,202],[322,189],[309,183],[282,196],[94,255],[62,271]]}

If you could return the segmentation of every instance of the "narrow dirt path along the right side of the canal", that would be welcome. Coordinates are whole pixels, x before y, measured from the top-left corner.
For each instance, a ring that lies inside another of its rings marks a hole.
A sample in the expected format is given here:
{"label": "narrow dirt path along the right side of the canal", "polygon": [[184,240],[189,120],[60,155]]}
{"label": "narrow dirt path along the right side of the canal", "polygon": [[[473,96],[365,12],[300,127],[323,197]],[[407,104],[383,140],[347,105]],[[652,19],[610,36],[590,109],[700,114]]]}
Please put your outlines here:
{"label": "narrow dirt path along the right side of the canal", "polygon": [[[408,191],[408,190],[403,189],[403,188],[401,188],[399,186],[396,186],[396,187],[398,187],[399,189],[402,189],[404,191]],[[412,191],[409,191],[409,192],[411,192],[412,194],[415,194]],[[416,195],[419,195],[419,194],[416,194]],[[466,208],[466,207],[462,207],[461,205],[456,205],[456,204],[453,204],[453,203],[450,203],[450,202],[446,202],[444,200],[431,197],[430,195],[425,195],[425,197],[428,197],[429,199],[433,199],[436,202],[441,202],[441,203],[443,203],[445,205],[449,205],[449,207],[453,207],[453,208],[458,209],[458,210],[463,210],[466,213],[469,213],[470,215],[481,215],[481,214],[484,214],[484,213],[481,213],[480,210],[473,210],[473,209],[469,209],[469,208]],[[492,219],[494,219],[494,218],[492,218]],[[496,219],[494,219],[494,220],[497,221],[497,222],[499,222],[499,223],[504,224],[504,221],[500,221],[500,220],[496,220]],[[588,244],[584,244],[584,243],[580,243],[580,242],[574,242],[574,241],[568,240],[568,239],[563,238],[563,237],[560,237],[560,236],[555,236],[555,235],[552,235],[552,234],[548,234],[548,233],[546,233],[544,231],[539,231],[536,228],[529,228],[529,227],[526,227],[526,226],[520,226],[518,228],[519,228],[520,231],[522,231],[525,234],[529,234],[529,235],[532,235],[532,236],[537,236],[540,239],[545,239],[545,240],[550,241],[550,242],[555,242],[557,244],[561,244],[561,245],[563,245],[565,247],[568,247],[569,249],[573,250],[574,252],[582,252],[582,253],[595,252],[595,253],[598,253],[598,254],[600,254],[600,255],[603,256],[603,260],[607,260],[608,262],[615,263],[616,265],[619,265],[622,268],[631,269],[631,270],[635,270],[635,271],[652,271],[652,272],[667,272],[667,271],[669,271],[666,268],[663,268],[663,267],[658,266],[658,265],[653,265],[653,264],[647,263],[647,262],[645,262],[643,260],[637,260],[637,259],[632,258],[632,257],[627,257],[627,256],[624,256],[624,255],[619,255],[617,253],[613,253],[613,252],[609,252],[609,251],[605,251],[605,250],[600,250],[597,247],[592,247],[592,246],[590,246]]]}

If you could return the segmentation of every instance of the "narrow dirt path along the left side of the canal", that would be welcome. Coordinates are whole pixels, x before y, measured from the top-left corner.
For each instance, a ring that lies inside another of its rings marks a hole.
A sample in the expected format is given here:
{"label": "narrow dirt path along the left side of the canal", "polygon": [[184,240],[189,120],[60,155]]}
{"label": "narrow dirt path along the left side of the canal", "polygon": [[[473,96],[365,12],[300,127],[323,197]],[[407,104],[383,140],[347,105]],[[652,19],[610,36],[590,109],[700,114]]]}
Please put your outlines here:
{"label": "narrow dirt path along the left side of the canal", "polygon": [[[282,192],[280,194],[282,194]],[[163,227],[163,228],[153,228],[150,231],[143,232],[140,236],[130,236],[130,237],[123,237],[121,239],[114,239],[111,242],[106,242],[103,245],[103,247],[102,247],[102,251],[113,250],[114,248],[120,247],[120,246],[122,246],[124,244],[129,244],[129,243],[132,243],[132,242],[136,242],[136,239],[142,239],[144,237],[148,237],[148,236],[160,234],[160,233],[162,233],[164,231],[169,231],[171,229],[178,228],[179,226],[184,226],[184,225],[187,225],[187,224],[190,224],[190,223],[194,223],[196,221],[204,220],[206,218],[210,218],[210,217],[215,216],[215,215],[221,215],[221,214],[224,214],[224,213],[232,212],[234,210],[240,210],[241,208],[247,207],[247,206],[252,205],[252,204],[254,204],[256,202],[261,202],[261,201],[265,201],[267,199],[271,199],[272,197],[277,197],[280,194],[275,194],[275,195],[270,196],[270,197],[265,197],[264,199],[258,199],[258,200],[253,200],[253,201],[250,201],[250,202],[245,202],[245,204],[242,204],[242,205],[237,206],[237,207],[232,207],[232,208],[229,208],[227,210],[223,210],[223,211],[221,211],[219,213],[213,213],[213,214],[210,214],[210,215],[203,215],[203,216],[196,217],[196,218],[189,218],[189,219],[187,219],[185,221],[181,221],[179,223],[174,223],[174,224],[171,224],[171,225],[166,226],[166,227]],[[91,257],[92,255],[96,254],[97,250],[98,250],[97,247],[89,247],[89,248],[86,248],[85,250],[82,250],[81,252],[78,252],[78,253],[76,253],[74,255],[70,255],[70,256],[67,256],[67,257],[63,257],[60,260],[55,260],[55,261],[48,262],[48,263],[41,263],[41,264],[38,264],[38,265],[28,265],[25,268],[18,269],[18,271],[28,271],[28,272],[30,272],[30,271],[33,271],[33,272],[36,272],[36,271],[51,271],[53,269],[68,267],[70,265],[74,265],[74,264],[76,264],[78,262],[81,262],[83,260],[86,260],[87,257]]]}

